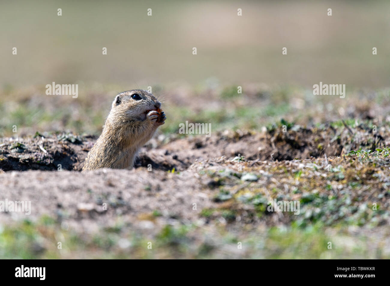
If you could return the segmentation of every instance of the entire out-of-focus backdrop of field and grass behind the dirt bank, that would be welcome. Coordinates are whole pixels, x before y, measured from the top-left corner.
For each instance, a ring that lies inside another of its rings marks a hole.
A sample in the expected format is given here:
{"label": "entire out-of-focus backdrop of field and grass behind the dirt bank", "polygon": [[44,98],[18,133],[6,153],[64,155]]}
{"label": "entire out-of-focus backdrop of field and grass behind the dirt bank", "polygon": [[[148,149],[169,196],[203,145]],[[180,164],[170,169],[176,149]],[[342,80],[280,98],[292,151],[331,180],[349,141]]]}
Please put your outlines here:
{"label": "entire out-of-focus backdrop of field and grass behind the dirt bank", "polygon": [[[99,135],[115,95],[148,86],[165,102],[164,133],[186,120],[259,130],[281,118],[365,119],[374,105],[376,119],[389,121],[389,8],[389,1],[2,2],[0,136],[15,135],[14,125],[19,136]],[[312,95],[320,81],[346,84],[346,98]],[[52,82],[78,84],[78,98],[46,95]]]}

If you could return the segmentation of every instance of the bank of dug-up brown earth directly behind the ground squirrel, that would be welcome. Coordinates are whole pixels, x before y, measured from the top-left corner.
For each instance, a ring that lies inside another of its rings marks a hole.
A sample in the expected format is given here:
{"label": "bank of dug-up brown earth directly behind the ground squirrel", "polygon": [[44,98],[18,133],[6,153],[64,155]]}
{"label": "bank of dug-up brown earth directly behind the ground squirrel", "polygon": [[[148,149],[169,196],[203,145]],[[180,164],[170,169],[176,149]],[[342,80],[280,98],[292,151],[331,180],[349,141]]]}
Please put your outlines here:
{"label": "bank of dug-up brown earth directly behind the ground squirrel", "polygon": [[[96,137],[62,134],[51,137],[0,139],[0,169],[80,171]],[[340,156],[350,150],[388,146],[389,132],[373,132],[369,126],[356,128],[330,125],[322,128],[276,126],[264,132],[241,130],[218,132],[214,136],[152,139],[140,151],[136,167],[185,170],[197,160],[243,156],[248,160],[282,161]]]}

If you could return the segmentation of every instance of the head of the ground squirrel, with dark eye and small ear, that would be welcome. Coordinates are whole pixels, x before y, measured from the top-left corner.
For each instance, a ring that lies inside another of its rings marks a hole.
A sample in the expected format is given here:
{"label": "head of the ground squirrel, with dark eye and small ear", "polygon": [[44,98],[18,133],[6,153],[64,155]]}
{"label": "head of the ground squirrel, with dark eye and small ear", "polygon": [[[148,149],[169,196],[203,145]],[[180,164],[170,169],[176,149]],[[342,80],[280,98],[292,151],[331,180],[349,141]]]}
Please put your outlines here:
{"label": "head of the ground squirrel, with dark eye and small ear", "polygon": [[119,93],[111,105],[109,114],[119,121],[145,121],[146,114],[159,110],[161,102],[146,90],[132,89]]}

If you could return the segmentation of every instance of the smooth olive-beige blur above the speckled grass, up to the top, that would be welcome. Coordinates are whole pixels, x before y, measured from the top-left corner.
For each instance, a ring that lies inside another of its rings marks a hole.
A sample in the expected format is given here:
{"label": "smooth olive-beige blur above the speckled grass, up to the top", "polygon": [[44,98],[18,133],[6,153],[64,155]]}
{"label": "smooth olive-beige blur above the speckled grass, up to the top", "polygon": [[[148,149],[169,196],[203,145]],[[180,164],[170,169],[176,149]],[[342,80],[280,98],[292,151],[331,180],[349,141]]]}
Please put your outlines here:
{"label": "smooth olive-beige blur above the speckled grass, up to the top", "polygon": [[[3,86],[92,81],[133,88],[197,84],[216,77],[223,84],[312,88],[322,81],[381,88],[390,78],[389,1],[74,0],[0,5]],[[58,8],[62,16],[57,16]],[[148,8],[152,16],[147,16]],[[238,8],[242,16],[237,16]],[[333,16],[327,16],[328,8]],[[17,47],[17,55],[12,55],[12,47]],[[287,47],[287,55],[282,55],[282,47]],[[378,49],[375,56],[372,47]]]}

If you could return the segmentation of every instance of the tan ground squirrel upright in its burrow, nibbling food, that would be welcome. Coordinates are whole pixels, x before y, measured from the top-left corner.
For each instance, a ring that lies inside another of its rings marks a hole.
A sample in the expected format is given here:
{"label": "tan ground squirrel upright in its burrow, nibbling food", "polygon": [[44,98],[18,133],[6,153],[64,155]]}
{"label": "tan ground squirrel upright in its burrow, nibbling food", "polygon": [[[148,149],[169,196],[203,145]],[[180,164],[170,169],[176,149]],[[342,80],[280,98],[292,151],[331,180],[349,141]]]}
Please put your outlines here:
{"label": "tan ground squirrel upright in its burrow, nibbling food", "polygon": [[112,102],[103,132],[85,159],[83,171],[132,168],[138,150],[164,124],[161,103],[151,93],[133,89]]}

